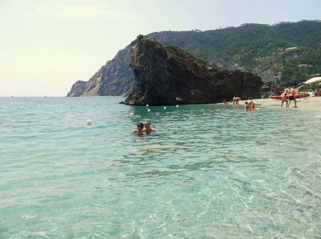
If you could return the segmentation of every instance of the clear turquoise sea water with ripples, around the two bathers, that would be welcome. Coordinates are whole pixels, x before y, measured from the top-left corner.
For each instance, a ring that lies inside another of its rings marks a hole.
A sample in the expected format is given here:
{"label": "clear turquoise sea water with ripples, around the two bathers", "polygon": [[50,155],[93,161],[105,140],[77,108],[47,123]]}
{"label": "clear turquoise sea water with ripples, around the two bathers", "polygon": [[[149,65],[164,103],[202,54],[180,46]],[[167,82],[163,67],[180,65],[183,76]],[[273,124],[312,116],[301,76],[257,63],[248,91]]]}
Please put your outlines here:
{"label": "clear turquoise sea water with ripples, around the two bathers", "polygon": [[123,99],[0,98],[0,238],[321,236],[318,114]]}

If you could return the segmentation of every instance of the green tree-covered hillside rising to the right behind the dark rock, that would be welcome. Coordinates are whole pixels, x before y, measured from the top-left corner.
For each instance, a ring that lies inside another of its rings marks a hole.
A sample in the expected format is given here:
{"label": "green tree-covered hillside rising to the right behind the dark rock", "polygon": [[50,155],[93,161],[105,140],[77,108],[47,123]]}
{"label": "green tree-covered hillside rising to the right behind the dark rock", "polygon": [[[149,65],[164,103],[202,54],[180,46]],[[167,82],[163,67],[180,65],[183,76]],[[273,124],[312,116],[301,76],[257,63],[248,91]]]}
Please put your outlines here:
{"label": "green tree-covered hillside rising to the right behind the dark rock", "polygon": [[[282,85],[297,85],[306,75],[321,73],[321,22],[255,23],[209,31],[164,31],[148,36],[164,45],[184,50],[215,62],[225,59],[256,74],[282,72]],[[286,51],[287,48],[298,47]],[[311,65],[299,68],[299,64]]]}

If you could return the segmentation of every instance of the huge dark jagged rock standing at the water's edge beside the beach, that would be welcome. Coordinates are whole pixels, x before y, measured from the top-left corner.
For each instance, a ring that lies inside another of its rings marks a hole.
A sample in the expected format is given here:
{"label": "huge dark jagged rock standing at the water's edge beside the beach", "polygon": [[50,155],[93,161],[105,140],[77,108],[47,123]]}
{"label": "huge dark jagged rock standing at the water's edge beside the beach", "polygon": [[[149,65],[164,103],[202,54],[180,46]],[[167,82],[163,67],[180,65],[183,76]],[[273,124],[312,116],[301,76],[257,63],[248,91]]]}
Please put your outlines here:
{"label": "huge dark jagged rock standing at the water's edge beside the beach", "polygon": [[217,103],[233,95],[260,97],[261,78],[211,65],[177,46],[139,35],[131,43],[134,92],[122,103],[171,105]]}

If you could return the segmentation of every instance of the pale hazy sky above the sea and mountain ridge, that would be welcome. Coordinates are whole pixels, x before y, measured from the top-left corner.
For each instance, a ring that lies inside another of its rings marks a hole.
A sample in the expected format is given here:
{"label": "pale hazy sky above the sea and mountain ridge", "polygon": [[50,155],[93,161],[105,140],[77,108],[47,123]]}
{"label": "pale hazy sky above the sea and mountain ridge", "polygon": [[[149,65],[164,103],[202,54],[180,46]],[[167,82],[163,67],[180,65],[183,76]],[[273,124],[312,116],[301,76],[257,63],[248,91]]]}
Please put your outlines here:
{"label": "pale hazy sky above the sea and mountain ridge", "polygon": [[0,96],[65,96],[139,34],[320,20],[319,3],[0,0]]}

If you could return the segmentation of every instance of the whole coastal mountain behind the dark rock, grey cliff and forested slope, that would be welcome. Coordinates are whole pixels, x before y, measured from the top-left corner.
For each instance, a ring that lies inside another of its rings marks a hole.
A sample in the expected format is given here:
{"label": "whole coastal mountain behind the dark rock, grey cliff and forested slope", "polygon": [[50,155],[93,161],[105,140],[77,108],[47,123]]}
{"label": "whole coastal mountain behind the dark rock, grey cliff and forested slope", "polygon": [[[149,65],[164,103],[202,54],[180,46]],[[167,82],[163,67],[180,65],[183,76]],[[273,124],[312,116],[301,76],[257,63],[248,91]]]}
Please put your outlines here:
{"label": "whole coastal mountain behind the dark rock, grey cliff and forested slope", "polygon": [[[282,86],[296,86],[311,78],[310,75],[321,73],[319,20],[273,25],[245,23],[204,32],[197,29],[162,31],[147,36],[162,45],[177,45],[215,65],[249,71],[265,82],[281,72]],[[76,82],[68,96],[129,95],[135,85],[130,59],[128,45],[90,80],[82,84]],[[299,67],[300,64],[307,67]],[[99,91],[95,91],[97,87]]]}

